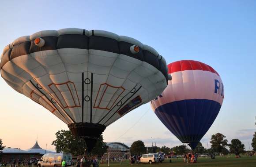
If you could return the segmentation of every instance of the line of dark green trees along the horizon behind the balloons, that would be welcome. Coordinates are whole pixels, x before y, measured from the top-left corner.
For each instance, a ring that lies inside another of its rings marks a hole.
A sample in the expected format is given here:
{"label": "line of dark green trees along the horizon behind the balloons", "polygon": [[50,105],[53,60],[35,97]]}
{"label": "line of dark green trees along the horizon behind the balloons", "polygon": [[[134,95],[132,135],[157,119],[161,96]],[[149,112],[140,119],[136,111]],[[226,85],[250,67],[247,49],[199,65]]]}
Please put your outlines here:
{"label": "line of dark green trees along the horizon behind the balloons", "polygon": [[[74,156],[83,155],[86,152],[86,143],[83,141],[82,138],[74,137],[71,131],[60,130],[56,132],[56,140],[52,142],[52,145],[55,146],[56,152],[70,152]],[[241,143],[239,139],[232,139],[231,143],[228,144],[226,136],[217,133],[211,136],[211,145],[210,148],[206,149],[203,147],[202,143],[196,146],[194,152],[203,154],[203,153],[211,153],[211,152],[220,152],[224,155],[230,153],[239,154],[245,152],[245,145]],[[253,134],[252,138],[252,149],[256,151],[256,132]],[[3,145],[2,139],[0,139],[0,150],[3,150],[5,146]],[[107,151],[106,142],[103,142],[103,136],[101,135],[98,139],[98,142],[94,149],[92,150],[93,155],[102,156]],[[229,148],[229,150],[227,149]],[[141,155],[148,152],[164,152],[166,155],[169,155],[171,151],[176,152],[177,154],[181,155],[185,152],[189,151],[187,145],[178,145],[172,148],[167,147],[166,145],[162,146],[161,148],[158,146],[153,147],[146,147],[141,140],[135,141],[132,143],[130,147],[130,152],[132,155]],[[0,152],[1,156],[1,152]]]}

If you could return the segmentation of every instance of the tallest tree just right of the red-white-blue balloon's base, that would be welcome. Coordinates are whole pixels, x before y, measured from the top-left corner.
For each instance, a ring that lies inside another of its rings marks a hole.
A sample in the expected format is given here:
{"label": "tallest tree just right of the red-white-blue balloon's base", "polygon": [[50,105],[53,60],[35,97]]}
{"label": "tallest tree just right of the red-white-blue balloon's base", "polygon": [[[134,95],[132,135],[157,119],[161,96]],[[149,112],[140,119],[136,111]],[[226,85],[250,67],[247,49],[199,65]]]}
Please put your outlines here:
{"label": "tallest tree just right of the red-white-blue balloon's base", "polygon": [[216,133],[211,136],[211,148],[214,152],[225,152],[226,146],[228,145],[228,141],[226,139],[225,135],[221,133]]}

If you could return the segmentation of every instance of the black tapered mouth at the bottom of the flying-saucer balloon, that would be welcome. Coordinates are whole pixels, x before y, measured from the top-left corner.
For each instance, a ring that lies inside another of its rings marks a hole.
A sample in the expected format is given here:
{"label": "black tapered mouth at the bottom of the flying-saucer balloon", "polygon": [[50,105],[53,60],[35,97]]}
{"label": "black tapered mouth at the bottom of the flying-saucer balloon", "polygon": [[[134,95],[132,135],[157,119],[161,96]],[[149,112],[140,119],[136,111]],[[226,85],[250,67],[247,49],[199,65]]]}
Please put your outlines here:
{"label": "black tapered mouth at the bottom of the flying-saucer balloon", "polygon": [[70,123],[68,128],[75,137],[83,138],[87,152],[91,152],[106,127],[98,123]]}

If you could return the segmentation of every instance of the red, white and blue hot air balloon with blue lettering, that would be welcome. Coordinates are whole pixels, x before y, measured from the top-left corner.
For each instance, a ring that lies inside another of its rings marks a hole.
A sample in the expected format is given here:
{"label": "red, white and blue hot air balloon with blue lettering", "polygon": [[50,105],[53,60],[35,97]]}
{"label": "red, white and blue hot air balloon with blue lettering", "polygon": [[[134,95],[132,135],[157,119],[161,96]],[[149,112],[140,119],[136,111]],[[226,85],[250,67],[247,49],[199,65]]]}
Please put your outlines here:
{"label": "red, white and blue hot air balloon with blue lettering", "polygon": [[221,108],[222,80],[210,65],[193,60],[169,64],[168,73],[172,80],[151,107],[169,131],[195,149]]}

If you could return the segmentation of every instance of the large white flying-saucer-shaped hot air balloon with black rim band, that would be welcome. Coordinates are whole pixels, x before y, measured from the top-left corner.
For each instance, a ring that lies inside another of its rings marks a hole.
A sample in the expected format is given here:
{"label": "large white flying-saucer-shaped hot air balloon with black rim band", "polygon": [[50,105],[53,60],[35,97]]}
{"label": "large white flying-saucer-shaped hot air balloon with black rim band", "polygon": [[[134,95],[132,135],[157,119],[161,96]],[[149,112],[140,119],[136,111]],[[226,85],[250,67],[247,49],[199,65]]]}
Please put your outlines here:
{"label": "large white flying-saucer-shaped hot air balloon with black rim band", "polygon": [[[90,152],[105,128],[166,88],[154,48],[102,30],[46,30],[4,48],[2,78],[83,137]],[[170,77],[170,76],[169,76]]]}

